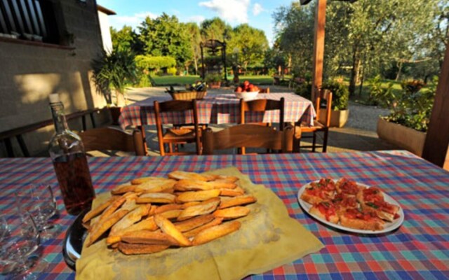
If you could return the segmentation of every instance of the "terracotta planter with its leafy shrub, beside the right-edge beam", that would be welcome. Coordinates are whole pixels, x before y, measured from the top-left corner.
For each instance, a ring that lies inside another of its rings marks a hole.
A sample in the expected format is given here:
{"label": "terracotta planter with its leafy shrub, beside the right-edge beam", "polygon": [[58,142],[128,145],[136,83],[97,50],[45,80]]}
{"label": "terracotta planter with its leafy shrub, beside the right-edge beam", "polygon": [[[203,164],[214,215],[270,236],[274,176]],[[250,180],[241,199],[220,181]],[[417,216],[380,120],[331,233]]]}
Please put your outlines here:
{"label": "terracotta planter with its leafy shrub, beside the right-edge beam", "polygon": [[429,87],[417,80],[402,83],[402,91],[389,102],[391,113],[377,122],[379,138],[421,156],[436,84],[437,79]]}

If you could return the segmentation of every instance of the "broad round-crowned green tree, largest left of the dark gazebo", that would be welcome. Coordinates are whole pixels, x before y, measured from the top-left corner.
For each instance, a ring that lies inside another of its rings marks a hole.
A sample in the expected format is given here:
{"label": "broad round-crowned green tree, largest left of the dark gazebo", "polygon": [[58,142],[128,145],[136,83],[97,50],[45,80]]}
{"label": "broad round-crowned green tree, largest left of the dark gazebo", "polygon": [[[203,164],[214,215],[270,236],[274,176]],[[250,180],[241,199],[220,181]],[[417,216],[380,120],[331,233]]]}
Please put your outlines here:
{"label": "broad round-crowned green tree, largest left of the dark gazebo", "polygon": [[185,62],[192,59],[187,27],[175,15],[163,13],[154,20],[147,17],[138,29],[145,53],[174,57],[178,66],[185,66]]}

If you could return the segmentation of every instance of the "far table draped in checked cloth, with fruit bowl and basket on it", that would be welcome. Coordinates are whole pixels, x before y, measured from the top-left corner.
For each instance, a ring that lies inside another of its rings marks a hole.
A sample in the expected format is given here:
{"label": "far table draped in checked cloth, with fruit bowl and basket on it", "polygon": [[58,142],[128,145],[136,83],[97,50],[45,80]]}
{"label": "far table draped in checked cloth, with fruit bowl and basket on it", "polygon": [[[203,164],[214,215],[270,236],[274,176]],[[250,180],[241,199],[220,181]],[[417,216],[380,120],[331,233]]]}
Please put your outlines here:
{"label": "far table draped in checked cloth, with fruit bowl and basket on it", "polygon": [[[258,99],[276,99],[281,97],[286,99],[284,108],[284,120],[287,123],[302,121],[307,125],[313,124],[316,116],[314,106],[311,101],[293,93],[270,93],[258,94]],[[171,100],[171,97],[150,97],[123,107],[119,123],[124,129],[130,125],[138,127],[142,125],[141,114],[145,114],[143,125],[155,125],[153,102],[164,102]],[[239,123],[240,106],[239,99],[234,94],[217,94],[206,96],[197,101],[199,123],[201,124],[223,124]],[[161,114],[162,123],[192,123],[190,113],[170,112]],[[248,112],[247,122],[254,123],[279,123],[279,111]]]}

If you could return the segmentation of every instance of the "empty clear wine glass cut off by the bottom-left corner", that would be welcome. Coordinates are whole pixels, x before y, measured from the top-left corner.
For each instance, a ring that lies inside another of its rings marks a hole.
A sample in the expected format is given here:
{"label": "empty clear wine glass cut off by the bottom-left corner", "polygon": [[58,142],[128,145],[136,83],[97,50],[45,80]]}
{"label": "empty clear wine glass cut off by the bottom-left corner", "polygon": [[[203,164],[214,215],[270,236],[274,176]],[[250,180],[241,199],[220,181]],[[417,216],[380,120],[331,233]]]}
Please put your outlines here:
{"label": "empty clear wine glass cut off by the bottom-left corner", "polygon": [[27,213],[0,214],[0,275],[36,279],[29,269],[36,264],[32,253],[39,246],[39,231]]}

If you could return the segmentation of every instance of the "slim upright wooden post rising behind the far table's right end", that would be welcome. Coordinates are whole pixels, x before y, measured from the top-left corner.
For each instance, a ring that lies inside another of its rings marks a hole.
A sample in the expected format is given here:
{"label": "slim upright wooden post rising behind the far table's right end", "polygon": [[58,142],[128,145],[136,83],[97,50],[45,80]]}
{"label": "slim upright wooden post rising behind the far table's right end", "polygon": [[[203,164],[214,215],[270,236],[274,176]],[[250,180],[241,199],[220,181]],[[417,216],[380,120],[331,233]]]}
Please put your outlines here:
{"label": "slim upright wooden post rising behind the far table's right end", "polygon": [[314,64],[311,87],[311,100],[314,102],[316,88],[323,84],[324,28],[326,26],[326,0],[318,0],[315,14]]}

